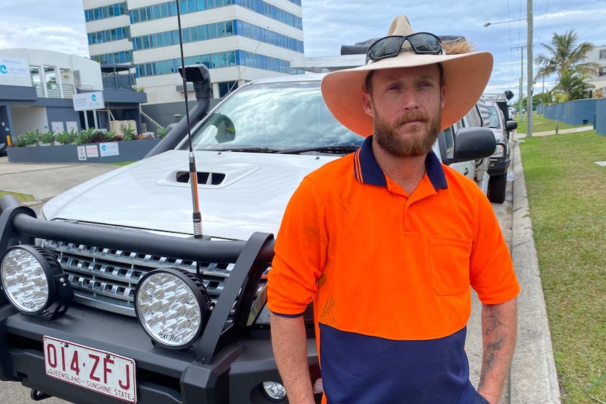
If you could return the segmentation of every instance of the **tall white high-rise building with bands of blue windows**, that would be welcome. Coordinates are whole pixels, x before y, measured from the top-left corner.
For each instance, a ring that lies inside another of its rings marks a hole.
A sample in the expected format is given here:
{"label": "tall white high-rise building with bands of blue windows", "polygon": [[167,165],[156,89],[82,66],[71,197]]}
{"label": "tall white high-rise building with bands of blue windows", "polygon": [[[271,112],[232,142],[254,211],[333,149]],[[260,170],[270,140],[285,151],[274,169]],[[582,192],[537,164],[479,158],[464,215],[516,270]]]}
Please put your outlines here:
{"label": "tall white high-rise building with bands of blue windows", "polygon": [[[82,5],[92,59],[132,63],[149,104],[183,100],[176,1]],[[213,98],[261,77],[302,73],[290,67],[303,56],[301,0],[180,0],[179,6],[185,65],[209,67]]]}

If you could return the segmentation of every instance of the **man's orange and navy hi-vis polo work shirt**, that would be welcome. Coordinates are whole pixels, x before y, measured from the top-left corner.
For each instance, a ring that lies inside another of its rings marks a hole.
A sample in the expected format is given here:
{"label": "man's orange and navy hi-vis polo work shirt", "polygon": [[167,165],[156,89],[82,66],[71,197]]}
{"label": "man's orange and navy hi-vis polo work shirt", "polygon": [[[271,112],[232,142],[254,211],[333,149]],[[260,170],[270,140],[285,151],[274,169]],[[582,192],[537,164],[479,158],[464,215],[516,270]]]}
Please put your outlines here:
{"label": "man's orange and navy hi-vis polo work shirt", "polygon": [[482,190],[433,152],[425,164],[408,195],[370,136],[306,176],[285,211],[268,306],[295,317],[314,301],[328,403],[472,403],[470,286],[484,304],[520,291]]}

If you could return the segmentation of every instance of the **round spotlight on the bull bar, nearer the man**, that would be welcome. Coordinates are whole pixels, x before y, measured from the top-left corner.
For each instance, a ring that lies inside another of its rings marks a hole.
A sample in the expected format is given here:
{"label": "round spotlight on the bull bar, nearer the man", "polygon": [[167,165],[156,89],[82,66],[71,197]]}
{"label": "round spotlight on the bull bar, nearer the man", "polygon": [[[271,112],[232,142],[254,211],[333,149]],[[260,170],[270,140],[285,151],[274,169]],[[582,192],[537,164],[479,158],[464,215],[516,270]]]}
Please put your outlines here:
{"label": "round spotlight on the bull bar, nearer the man", "polygon": [[210,297],[202,282],[179,268],[151,271],[138,282],[135,313],[143,330],[165,348],[188,348],[198,338]]}

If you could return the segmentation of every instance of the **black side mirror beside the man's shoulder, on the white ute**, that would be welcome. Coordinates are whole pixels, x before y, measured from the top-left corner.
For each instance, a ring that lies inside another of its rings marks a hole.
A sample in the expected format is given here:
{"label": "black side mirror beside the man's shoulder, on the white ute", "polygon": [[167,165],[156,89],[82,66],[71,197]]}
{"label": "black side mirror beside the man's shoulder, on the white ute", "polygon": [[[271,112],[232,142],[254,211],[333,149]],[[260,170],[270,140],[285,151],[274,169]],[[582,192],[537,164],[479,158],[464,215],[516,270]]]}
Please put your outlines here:
{"label": "black side mirror beside the man's shoulder, on the white ute", "polygon": [[490,129],[479,126],[461,128],[455,135],[453,158],[448,163],[483,159],[493,155],[494,150],[496,141]]}

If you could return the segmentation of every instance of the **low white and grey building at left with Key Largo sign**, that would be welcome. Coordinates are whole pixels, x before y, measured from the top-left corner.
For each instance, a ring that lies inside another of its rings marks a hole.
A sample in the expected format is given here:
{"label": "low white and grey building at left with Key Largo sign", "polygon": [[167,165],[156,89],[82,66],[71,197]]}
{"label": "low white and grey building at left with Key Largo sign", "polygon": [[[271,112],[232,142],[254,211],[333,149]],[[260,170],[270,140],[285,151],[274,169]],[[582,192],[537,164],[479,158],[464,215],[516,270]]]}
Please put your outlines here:
{"label": "low white and grey building at left with Key Largo sign", "polygon": [[[27,131],[108,129],[115,119],[134,119],[141,131],[138,107],[146,96],[122,84],[117,70],[80,56],[43,49],[0,49],[0,142]],[[73,98],[94,91],[103,107],[75,108]]]}

